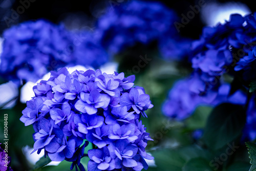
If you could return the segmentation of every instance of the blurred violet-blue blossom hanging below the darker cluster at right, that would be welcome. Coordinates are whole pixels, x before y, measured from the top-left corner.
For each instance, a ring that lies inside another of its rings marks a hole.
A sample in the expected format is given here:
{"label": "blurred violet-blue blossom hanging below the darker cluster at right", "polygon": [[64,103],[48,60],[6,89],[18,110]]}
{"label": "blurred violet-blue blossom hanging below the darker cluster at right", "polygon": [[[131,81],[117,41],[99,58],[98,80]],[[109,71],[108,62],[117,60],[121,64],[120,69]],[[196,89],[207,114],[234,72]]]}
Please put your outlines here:
{"label": "blurred violet-blue blossom hanging below the darker cluster at right", "polygon": [[230,84],[221,84],[217,90],[211,89],[207,92],[207,96],[195,92],[195,87],[200,88],[200,84],[203,82],[194,77],[178,81],[163,103],[164,115],[176,120],[183,120],[193,114],[199,105],[216,106],[223,102],[245,104],[246,95],[242,91],[237,91],[229,96]]}

